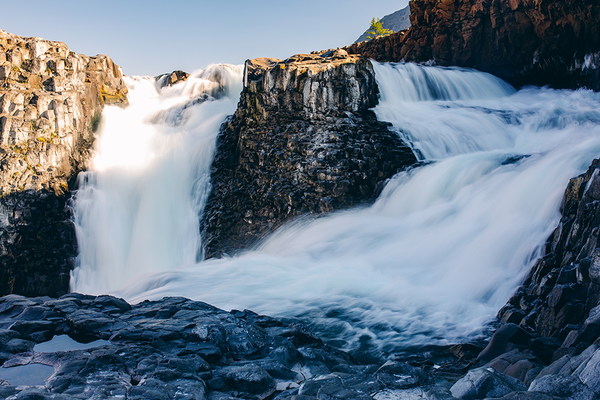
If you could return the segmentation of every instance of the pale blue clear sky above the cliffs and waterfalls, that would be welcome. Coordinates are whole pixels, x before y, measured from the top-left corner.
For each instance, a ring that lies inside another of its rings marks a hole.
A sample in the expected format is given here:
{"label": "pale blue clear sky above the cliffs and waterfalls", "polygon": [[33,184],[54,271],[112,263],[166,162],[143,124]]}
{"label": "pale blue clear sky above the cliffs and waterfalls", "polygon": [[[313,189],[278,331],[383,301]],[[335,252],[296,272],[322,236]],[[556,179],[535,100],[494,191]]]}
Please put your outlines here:
{"label": "pale blue clear sky above the cliffs and waterfalls", "polygon": [[408,0],[3,1],[0,29],[108,54],[128,75],[285,58],[354,42]]}

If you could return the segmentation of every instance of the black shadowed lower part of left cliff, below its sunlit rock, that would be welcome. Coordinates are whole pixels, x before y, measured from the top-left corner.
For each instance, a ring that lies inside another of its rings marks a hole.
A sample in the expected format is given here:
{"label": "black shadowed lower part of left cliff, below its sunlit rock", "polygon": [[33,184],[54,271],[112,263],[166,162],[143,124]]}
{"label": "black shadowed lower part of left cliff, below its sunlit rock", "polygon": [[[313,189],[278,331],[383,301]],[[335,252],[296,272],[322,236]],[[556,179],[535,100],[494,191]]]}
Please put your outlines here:
{"label": "black shadowed lower part of left cliff, below its sunlit rock", "polygon": [[77,256],[70,194],[45,189],[0,199],[0,293],[60,296]]}

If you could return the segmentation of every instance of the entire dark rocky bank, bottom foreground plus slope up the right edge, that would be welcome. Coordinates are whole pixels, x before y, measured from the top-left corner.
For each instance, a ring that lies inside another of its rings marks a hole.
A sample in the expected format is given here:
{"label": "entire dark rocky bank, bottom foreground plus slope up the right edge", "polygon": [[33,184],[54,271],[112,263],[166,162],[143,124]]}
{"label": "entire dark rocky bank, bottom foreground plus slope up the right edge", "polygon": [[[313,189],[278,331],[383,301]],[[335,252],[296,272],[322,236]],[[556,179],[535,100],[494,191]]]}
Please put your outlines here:
{"label": "entire dark rocky bank, bottom foreground plus slope up the right edge", "polygon": [[[298,322],[185,298],[131,305],[77,293],[10,295],[0,298],[0,396],[598,399],[599,176],[595,160],[571,180],[547,255],[499,312],[489,341],[378,360],[328,346]],[[38,369],[27,378],[20,368]]]}

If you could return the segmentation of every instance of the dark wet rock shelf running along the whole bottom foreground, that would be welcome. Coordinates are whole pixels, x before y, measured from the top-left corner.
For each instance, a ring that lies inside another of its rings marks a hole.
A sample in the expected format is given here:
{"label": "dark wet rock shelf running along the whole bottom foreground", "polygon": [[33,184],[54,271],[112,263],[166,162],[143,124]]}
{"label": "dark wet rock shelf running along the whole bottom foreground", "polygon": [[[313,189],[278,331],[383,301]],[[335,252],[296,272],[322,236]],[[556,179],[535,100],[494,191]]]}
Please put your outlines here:
{"label": "dark wet rock shelf running along the whole bottom foreground", "polygon": [[[58,335],[92,343],[83,349],[46,346],[38,351],[38,343]],[[478,341],[411,348],[363,364],[300,323],[248,310],[226,312],[180,297],[130,305],[112,296],[78,293],[58,299],[9,295],[0,298],[0,397],[600,398],[597,344],[552,363],[520,357],[535,347],[535,338],[507,324],[487,347]],[[98,339],[104,341],[93,342]],[[537,369],[523,379],[506,366],[499,371],[501,359],[513,365],[527,360]],[[15,385],[3,378],[7,368],[39,364],[53,367],[42,377],[43,385]]]}

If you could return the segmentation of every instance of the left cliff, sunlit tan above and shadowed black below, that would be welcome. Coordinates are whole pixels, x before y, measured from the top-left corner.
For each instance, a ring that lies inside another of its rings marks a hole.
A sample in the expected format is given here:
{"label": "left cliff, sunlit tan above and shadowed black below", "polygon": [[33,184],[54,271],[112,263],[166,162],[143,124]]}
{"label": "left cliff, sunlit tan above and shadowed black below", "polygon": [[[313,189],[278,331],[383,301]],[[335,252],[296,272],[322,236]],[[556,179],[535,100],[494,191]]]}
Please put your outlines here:
{"label": "left cliff, sunlit tan above and shadowed black below", "polygon": [[127,105],[109,57],[0,31],[0,294],[68,291],[69,185],[87,168],[105,104]]}

